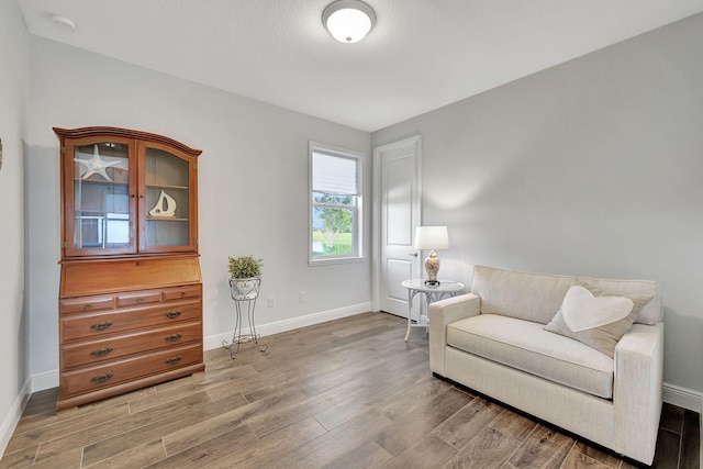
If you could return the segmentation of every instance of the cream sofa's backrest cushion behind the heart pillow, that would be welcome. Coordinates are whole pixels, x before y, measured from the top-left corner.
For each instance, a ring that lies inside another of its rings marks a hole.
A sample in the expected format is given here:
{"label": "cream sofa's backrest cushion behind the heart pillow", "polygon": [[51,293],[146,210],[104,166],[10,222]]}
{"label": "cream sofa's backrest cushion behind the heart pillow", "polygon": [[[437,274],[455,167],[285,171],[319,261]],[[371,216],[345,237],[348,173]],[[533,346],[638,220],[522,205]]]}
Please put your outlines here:
{"label": "cream sofa's backrest cushion behind the heart pillow", "polygon": [[598,288],[607,295],[652,297],[635,322],[656,324],[662,320],[659,284],[646,280],[567,277],[476,266],[471,293],[481,297],[481,314],[501,314],[547,324],[559,311],[563,297],[573,284]]}

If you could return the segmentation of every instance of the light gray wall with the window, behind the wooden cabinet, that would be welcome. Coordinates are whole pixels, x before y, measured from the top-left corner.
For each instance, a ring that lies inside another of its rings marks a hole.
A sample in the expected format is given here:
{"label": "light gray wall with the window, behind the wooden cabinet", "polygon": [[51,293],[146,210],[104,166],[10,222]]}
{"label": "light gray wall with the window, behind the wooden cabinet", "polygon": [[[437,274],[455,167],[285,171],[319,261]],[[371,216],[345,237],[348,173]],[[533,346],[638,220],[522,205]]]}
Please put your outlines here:
{"label": "light gray wall with the window, behind the wooden cabinet", "polygon": [[[58,368],[58,139],[53,126],[110,125],[202,149],[199,238],[205,337],[231,332],[227,256],[264,258],[257,326],[370,301],[369,260],[308,266],[308,142],[370,155],[370,135],[32,37],[30,230],[32,375]],[[370,196],[370,156],[365,165]],[[370,197],[369,197],[370,199]],[[370,211],[369,211],[370,212]],[[369,215],[365,238],[369,245]],[[349,281],[355,279],[355,281]],[[299,292],[306,302],[299,302]],[[36,350],[36,353],[34,353]]]}

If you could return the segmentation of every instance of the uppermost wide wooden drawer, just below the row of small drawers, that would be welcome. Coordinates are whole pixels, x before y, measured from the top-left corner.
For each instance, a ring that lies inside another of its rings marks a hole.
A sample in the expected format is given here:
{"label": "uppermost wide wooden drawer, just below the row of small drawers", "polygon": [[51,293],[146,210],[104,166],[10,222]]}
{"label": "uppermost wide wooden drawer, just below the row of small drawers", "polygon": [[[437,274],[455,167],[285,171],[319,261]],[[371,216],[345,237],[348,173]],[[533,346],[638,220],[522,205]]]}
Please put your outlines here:
{"label": "uppermost wide wooden drawer, just below the row of small drawers", "polygon": [[74,314],[60,317],[62,344],[88,337],[116,334],[180,321],[200,321],[200,301],[157,304],[107,311],[96,314]]}

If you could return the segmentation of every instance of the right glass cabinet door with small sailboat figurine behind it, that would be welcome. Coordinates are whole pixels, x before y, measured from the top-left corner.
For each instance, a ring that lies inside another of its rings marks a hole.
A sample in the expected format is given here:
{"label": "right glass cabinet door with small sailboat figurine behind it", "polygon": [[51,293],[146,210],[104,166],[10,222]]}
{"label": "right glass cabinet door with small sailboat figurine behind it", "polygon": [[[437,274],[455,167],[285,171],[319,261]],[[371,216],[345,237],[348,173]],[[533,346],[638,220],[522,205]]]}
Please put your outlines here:
{"label": "right glass cabinet door with small sailboat figurine behind it", "polygon": [[140,144],[140,252],[197,250],[194,158],[155,143]]}

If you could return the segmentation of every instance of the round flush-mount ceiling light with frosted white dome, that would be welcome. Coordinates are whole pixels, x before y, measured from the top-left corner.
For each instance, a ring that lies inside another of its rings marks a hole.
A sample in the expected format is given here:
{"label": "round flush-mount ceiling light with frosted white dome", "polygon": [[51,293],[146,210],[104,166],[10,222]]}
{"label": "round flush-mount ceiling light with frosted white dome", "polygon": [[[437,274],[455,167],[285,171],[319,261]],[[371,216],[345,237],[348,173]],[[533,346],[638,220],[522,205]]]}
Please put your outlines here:
{"label": "round flush-mount ceiling light with frosted white dome", "polygon": [[360,0],[337,0],[322,12],[322,23],[341,43],[361,41],[376,24],[373,9]]}

